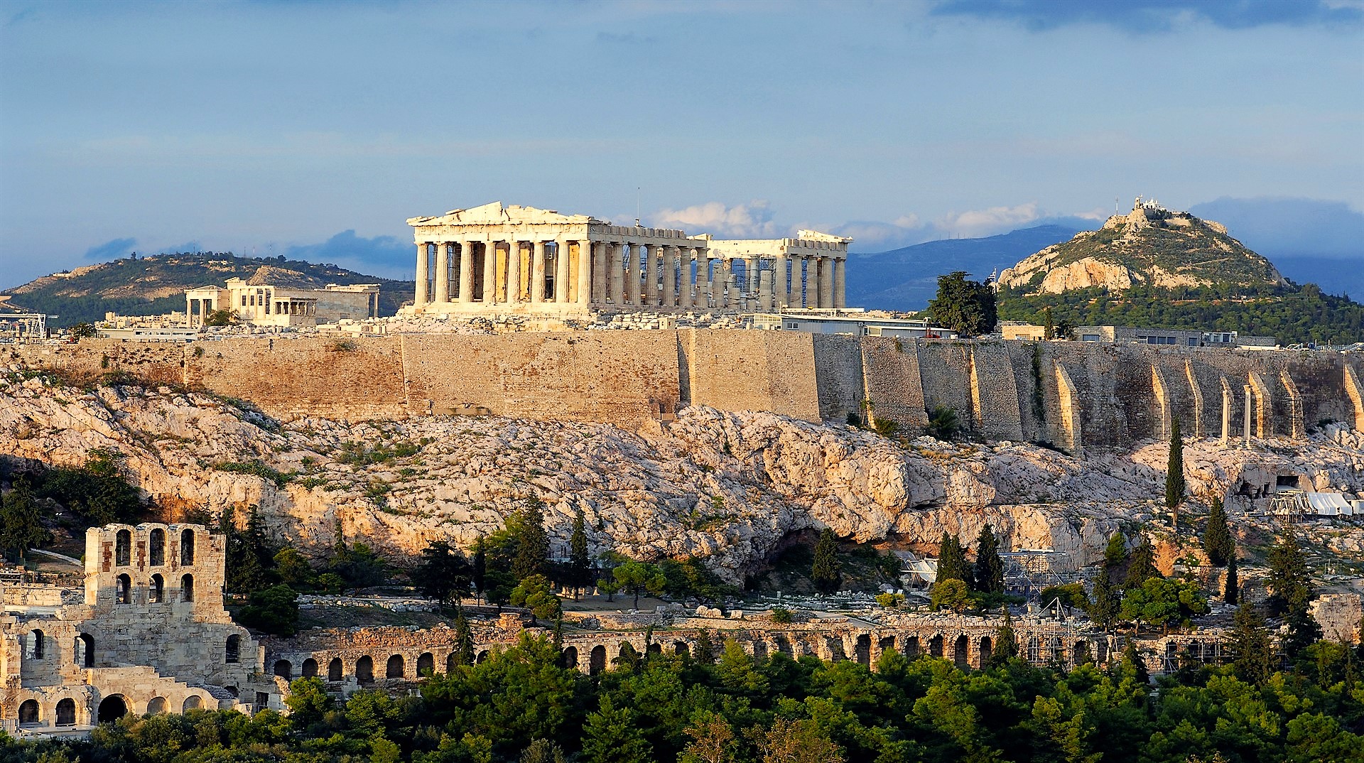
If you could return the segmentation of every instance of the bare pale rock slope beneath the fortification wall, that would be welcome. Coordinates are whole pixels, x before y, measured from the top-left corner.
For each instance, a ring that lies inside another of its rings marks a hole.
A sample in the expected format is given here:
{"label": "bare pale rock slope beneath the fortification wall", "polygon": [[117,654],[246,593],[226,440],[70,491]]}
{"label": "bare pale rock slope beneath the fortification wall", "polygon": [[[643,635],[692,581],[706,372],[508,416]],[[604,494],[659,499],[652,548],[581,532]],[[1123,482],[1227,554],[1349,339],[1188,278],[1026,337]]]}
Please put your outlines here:
{"label": "bare pale rock slope beneath the fortification wall", "polygon": [[[1312,485],[1359,491],[1354,433],[1329,437],[1333,449],[1304,450],[1296,468]],[[244,519],[258,506],[271,532],[316,554],[338,527],[398,557],[435,539],[468,547],[536,495],[557,546],[582,510],[597,551],[700,556],[730,580],[791,534],[822,527],[926,550],[944,531],[974,545],[990,524],[1008,547],[1086,564],[1123,523],[1153,516],[1165,463],[1155,444],[1086,460],[1009,442],[902,446],[847,426],[702,407],[640,431],[495,416],[280,424],[168,388],[0,382],[0,453],[75,465],[95,448],[120,452],[172,517],[235,509]],[[1196,494],[1234,493],[1263,476],[1255,470],[1278,468],[1210,441],[1185,455]]]}

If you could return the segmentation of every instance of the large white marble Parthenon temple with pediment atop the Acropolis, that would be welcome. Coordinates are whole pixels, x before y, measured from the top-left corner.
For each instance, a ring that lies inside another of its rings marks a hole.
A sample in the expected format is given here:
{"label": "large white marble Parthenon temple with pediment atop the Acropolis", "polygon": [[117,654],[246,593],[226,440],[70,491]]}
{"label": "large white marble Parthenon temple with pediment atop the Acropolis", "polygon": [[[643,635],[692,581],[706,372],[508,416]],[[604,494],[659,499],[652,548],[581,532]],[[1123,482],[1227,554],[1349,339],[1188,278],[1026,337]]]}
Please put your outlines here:
{"label": "large white marble Parthenon temple with pediment atop the Acropolis", "polygon": [[411,313],[548,315],[844,307],[851,239],[716,240],[492,202],[412,217]]}

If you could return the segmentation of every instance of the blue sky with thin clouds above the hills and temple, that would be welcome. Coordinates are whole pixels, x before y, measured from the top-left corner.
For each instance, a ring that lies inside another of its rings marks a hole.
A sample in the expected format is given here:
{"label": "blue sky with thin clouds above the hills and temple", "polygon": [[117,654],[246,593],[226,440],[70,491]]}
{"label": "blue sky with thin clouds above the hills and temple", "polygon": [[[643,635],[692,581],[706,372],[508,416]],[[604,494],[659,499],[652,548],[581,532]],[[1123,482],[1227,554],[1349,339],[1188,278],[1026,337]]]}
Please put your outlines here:
{"label": "blue sky with thin clouds above the hills and temple", "polygon": [[398,276],[406,217],[636,188],[861,251],[1144,194],[1364,257],[1361,51],[1356,0],[0,3],[0,287],[191,246]]}

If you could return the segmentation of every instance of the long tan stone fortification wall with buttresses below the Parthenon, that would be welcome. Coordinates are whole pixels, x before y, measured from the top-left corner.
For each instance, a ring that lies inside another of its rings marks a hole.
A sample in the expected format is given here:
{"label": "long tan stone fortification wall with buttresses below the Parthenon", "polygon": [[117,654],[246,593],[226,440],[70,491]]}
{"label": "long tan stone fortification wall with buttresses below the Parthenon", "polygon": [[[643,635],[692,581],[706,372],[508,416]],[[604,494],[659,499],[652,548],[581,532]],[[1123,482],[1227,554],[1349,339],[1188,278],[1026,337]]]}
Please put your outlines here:
{"label": "long tan stone fortification wall with buttresses below the Parthenon", "polygon": [[282,418],[494,414],[634,427],[701,404],[809,420],[869,415],[913,435],[952,408],[978,434],[1069,450],[1162,438],[1174,419],[1188,435],[1237,438],[1247,409],[1255,438],[1303,437],[1323,420],[1364,426],[1364,363],[1333,352],[681,329],[83,340],[8,347],[0,364],[125,373]]}

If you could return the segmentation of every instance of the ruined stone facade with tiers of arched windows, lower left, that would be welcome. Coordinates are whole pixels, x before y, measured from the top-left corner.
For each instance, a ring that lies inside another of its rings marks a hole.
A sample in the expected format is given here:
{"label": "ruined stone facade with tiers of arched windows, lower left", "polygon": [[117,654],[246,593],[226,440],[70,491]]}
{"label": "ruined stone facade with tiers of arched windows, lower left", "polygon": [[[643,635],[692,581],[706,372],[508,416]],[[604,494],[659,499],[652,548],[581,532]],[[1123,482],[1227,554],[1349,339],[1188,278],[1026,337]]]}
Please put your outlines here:
{"label": "ruined stone facade with tiers of arched windows, lower left", "polygon": [[83,591],[0,586],[0,730],[280,707],[259,644],[222,607],[225,546],[196,524],[109,524],[86,531]]}

